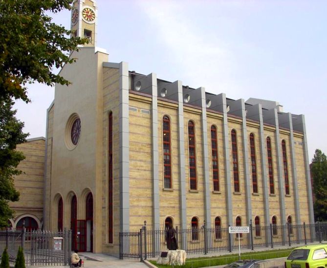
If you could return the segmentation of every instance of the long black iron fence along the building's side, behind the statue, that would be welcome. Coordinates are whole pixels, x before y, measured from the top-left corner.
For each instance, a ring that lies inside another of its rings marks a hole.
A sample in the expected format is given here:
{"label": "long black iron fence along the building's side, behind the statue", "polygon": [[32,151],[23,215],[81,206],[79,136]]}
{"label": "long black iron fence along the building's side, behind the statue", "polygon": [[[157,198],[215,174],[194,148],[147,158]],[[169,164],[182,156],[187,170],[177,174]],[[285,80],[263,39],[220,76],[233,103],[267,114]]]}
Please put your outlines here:
{"label": "long black iron fence along the building's side, behind the statue", "polygon": [[[188,255],[215,252],[233,252],[240,249],[264,249],[294,246],[327,241],[327,222],[303,225],[253,226],[249,233],[229,233],[228,227],[207,228],[203,225],[196,229],[176,230],[178,249],[184,249]],[[119,235],[119,255],[121,259],[144,260],[158,257],[167,250],[167,230],[127,230]]]}

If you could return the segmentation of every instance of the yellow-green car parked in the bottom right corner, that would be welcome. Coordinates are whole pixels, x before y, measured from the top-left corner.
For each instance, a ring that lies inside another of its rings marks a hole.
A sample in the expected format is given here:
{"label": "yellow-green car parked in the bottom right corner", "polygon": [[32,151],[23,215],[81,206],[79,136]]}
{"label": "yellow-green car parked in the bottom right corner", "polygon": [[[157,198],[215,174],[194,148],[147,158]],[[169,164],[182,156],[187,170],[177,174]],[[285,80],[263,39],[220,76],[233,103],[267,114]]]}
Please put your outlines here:
{"label": "yellow-green car parked in the bottom right corner", "polygon": [[285,268],[326,268],[327,244],[309,245],[293,249],[285,261]]}

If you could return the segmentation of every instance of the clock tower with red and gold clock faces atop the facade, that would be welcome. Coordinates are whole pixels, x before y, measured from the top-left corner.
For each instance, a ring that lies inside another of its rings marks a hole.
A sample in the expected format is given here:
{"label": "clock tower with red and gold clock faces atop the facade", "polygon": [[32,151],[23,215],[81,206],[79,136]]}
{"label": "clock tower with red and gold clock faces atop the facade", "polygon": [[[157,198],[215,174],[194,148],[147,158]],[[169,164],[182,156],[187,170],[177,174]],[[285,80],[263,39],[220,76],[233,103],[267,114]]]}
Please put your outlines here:
{"label": "clock tower with red and gold clock faces atop the facade", "polygon": [[76,0],[71,10],[70,29],[75,37],[88,38],[85,46],[96,46],[98,8],[95,0]]}

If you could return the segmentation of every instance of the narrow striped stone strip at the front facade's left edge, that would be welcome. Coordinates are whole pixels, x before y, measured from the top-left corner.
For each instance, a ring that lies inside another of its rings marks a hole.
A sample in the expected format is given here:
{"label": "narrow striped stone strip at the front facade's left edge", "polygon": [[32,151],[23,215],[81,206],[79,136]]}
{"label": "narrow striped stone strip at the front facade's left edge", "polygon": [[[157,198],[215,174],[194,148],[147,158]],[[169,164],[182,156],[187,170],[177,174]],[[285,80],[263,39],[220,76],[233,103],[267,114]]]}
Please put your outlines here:
{"label": "narrow striped stone strip at the front facade's left edge", "polygon": [[53,144],[53,118],[54,102],[47,109],[45,159],[44,159],[44,230],[50,230],[50,211],[51,211],[51,173],[52,173],[52,144]]}

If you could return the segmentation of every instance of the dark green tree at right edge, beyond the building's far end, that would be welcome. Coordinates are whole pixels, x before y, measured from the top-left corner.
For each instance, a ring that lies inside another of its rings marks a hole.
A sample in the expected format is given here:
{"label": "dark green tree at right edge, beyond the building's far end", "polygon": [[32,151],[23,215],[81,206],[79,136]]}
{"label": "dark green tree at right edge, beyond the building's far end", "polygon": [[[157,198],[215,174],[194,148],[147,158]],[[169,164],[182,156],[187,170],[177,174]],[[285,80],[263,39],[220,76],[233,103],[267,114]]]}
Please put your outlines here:
{"label": "dark green tree at right edge, beyond the building's far end", "polygon": [[315,219],[327,220],[327,157],[317,149],[312,159],[311,174],[316,201],[313,205]]}

